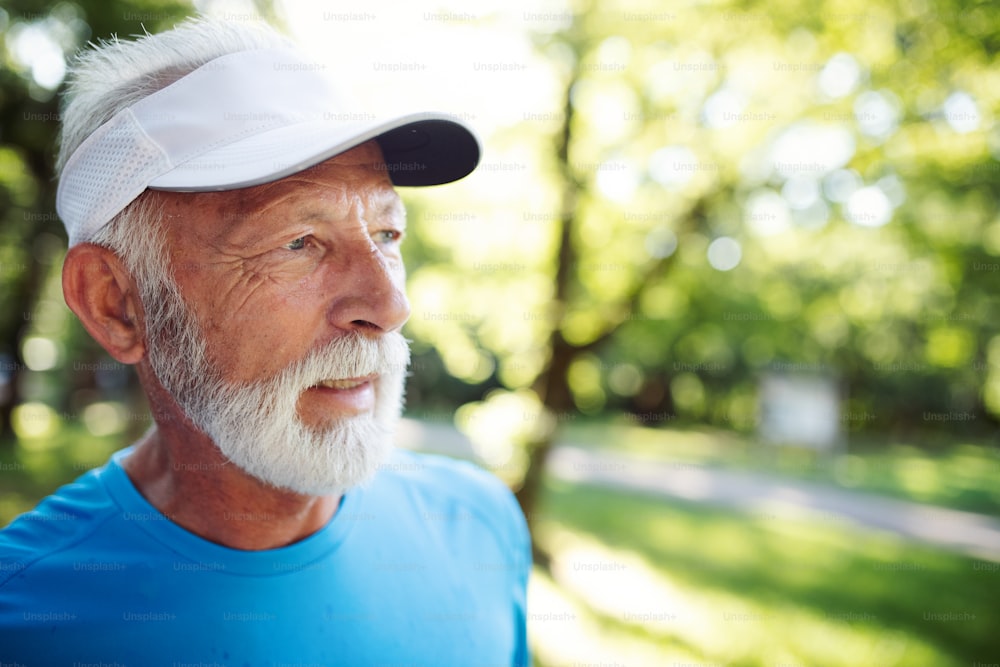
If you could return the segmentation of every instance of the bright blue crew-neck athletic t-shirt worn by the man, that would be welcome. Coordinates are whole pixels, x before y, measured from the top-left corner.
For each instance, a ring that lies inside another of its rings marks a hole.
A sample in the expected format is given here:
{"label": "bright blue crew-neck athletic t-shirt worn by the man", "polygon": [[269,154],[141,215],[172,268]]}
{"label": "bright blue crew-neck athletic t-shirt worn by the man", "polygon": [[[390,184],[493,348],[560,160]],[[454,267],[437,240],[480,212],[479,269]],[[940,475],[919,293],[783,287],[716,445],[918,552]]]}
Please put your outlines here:
{"label": "bright blue crew-neck athletic t-shirt worn by the man", "polygon": [[150,505],[128,452],[0,531],[0,663],[528,664],[524,516],[476,466],[397,450],[315,534],[240,551]]}

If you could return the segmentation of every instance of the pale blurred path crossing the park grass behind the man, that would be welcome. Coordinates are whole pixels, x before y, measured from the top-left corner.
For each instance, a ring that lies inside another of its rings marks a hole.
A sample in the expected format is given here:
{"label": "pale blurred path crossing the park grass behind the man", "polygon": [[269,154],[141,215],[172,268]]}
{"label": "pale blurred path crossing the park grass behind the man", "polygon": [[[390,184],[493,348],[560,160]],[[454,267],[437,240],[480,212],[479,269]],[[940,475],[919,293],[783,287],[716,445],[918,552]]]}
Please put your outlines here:
{"label": "pale blurred path crossing the park grass behind the man", "polygon": [[[475,459],[469,440],[446,424],[404,419],[400,445]],[[569,443],[553,448],[550,475],[743,511],[757,518],[849,521],[866,528],[1000,562],[1000,519],[767,473],[650,461]]]}

